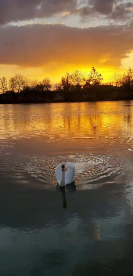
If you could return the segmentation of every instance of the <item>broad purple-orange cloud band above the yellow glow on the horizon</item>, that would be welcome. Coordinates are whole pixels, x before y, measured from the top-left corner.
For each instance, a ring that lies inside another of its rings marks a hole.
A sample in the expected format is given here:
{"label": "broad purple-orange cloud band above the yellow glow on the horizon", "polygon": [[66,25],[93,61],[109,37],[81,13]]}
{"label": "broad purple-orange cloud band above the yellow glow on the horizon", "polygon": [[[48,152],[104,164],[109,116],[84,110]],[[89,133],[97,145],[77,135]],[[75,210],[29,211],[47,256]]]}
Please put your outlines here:
{"label": "broad purple-orange cloud band above the yellow glow on the horizon", "polygon": [[[133,50],[132,25],[71,28],[65,25],[0,27],[0,64],[38,67],[48,63],[119,67]],[[80,38],[80,39],[79,39]]]}

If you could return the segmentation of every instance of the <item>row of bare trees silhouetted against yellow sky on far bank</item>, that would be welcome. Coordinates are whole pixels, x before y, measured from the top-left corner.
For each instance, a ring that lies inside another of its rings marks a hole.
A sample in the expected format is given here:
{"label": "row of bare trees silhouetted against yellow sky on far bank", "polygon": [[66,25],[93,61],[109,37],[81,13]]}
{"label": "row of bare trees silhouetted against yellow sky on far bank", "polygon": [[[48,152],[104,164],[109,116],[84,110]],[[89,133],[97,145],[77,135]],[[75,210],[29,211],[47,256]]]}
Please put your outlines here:
{"label": "row of bare trees silhouetted against yellow sky on far bank", "polygon": [[[103,85],[102,74],[99,73],[95,67],[85,76],[85,73],[80,70],[74,70],[72,73],[67,72],[61,77],[61,82],[56,83],[52,86],[52,82],[49,77],[45,77],[42,81],[38,79],[30,80],[24,77],[23,74],[15,74],[9,79],[9,83],[5,77],[0,78],[0,93],[6,93],[11,91],[13,93],[20,93],[21,91],[26,91],[29,89],[39,90],[41,92],[52,90],[81,90],[88,89],[91,86],[101,86]],[[109,82],[104,83],[104,85],[115,85],[115,86],[133,86],[133,69],[129,67],[123,74],[115,72],[109,78]]]}

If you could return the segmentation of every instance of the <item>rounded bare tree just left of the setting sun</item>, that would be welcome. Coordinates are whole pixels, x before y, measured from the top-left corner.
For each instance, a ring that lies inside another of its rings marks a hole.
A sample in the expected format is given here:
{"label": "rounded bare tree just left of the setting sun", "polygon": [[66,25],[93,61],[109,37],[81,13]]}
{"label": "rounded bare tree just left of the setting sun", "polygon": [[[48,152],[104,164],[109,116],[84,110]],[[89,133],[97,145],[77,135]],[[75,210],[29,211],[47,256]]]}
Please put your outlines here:
{"label": "rounded bare tree just left of the setting sun", "polygon": [[80,89],[85,82],[84,72],[78,69],[73,71],[70,75],[70,80],[77,89]]}

